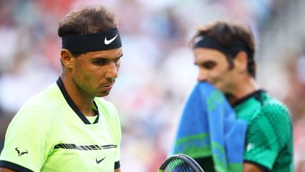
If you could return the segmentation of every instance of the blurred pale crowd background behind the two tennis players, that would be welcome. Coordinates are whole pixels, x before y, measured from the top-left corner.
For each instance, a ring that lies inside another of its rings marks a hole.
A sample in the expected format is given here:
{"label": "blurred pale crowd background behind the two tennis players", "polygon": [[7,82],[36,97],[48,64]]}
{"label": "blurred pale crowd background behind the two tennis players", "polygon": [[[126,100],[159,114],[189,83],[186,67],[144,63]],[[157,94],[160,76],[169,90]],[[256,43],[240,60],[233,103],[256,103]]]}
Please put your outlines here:
{"label": "blurred pale crowd background behind the two tennis players", "polygon": [[20,106],[58,78],[57,27],[80,4],[104,4],[119,18],[124,57],[106,99],[121,117],[122,171],[157,171],[166,158],[196,83],[188,42],[218,19],[252,28],[258,83],[292,111],[294,164],[305,171],[304,0],[0,0],[0,150]]}

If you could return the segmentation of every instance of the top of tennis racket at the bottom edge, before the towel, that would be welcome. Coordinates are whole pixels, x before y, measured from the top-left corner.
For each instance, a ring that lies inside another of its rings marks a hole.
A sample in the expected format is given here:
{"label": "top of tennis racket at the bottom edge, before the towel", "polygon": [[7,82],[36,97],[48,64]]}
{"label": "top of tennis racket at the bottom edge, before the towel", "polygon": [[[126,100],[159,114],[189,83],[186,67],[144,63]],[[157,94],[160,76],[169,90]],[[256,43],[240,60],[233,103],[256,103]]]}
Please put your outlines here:
{"label": "top of tennis racket at the bottom edge, before the towel", "polygon": [[204,172],[190,156],[174,154],[165,159],[157,172]]}

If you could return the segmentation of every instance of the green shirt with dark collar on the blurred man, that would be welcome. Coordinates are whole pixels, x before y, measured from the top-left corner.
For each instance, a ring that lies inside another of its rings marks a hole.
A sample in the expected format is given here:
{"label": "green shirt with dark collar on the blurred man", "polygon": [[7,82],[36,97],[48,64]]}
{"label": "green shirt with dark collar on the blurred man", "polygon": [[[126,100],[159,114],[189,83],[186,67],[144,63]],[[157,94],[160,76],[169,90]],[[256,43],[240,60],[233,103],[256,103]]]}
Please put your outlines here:
{"label": "green shirt with dark collar on the blurred man", "polygon": [[293,171],[292,119],[285,105],[256,91],[233,105],[248,122],[244,161],[268,171]]}

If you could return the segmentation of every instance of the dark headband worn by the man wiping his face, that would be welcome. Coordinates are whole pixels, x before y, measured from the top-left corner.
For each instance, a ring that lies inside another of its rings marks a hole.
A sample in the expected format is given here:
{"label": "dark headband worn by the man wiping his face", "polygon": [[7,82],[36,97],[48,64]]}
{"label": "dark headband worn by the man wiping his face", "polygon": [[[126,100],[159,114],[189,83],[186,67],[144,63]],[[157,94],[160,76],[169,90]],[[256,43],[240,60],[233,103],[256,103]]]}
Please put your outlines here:
{"label": "dark headband worn by the man wiping his face", "polygon": [[244,51],[246,54],[250,55],[248,48],[244,44],[244,42],[241,42],[240,40],[234,40],[232,45],[222,45],[216,38],[213,38],[208,35],[198,35],[197,38],[194,40],[194,48],[196,47],[205,47],[205,48],[211,48],[218,50],[220,52],[227,53],[231,55],[232,57],[235,57],[238,52]]}

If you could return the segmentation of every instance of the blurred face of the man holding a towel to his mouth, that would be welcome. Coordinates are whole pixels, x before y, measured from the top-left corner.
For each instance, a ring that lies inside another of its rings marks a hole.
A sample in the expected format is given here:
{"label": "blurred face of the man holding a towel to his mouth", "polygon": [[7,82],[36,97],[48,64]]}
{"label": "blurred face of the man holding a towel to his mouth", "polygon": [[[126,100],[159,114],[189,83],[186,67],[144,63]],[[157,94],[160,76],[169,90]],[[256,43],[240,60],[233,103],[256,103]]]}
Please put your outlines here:
{"label": "blurred face of the man holding a towel to his mouth", "polygon": [[225,54],[210,48],[193,50],[195,64],[198,66],[198,81],[207,81],[223,93],[233,93],[236,86],[237,71],[229,68]]}

